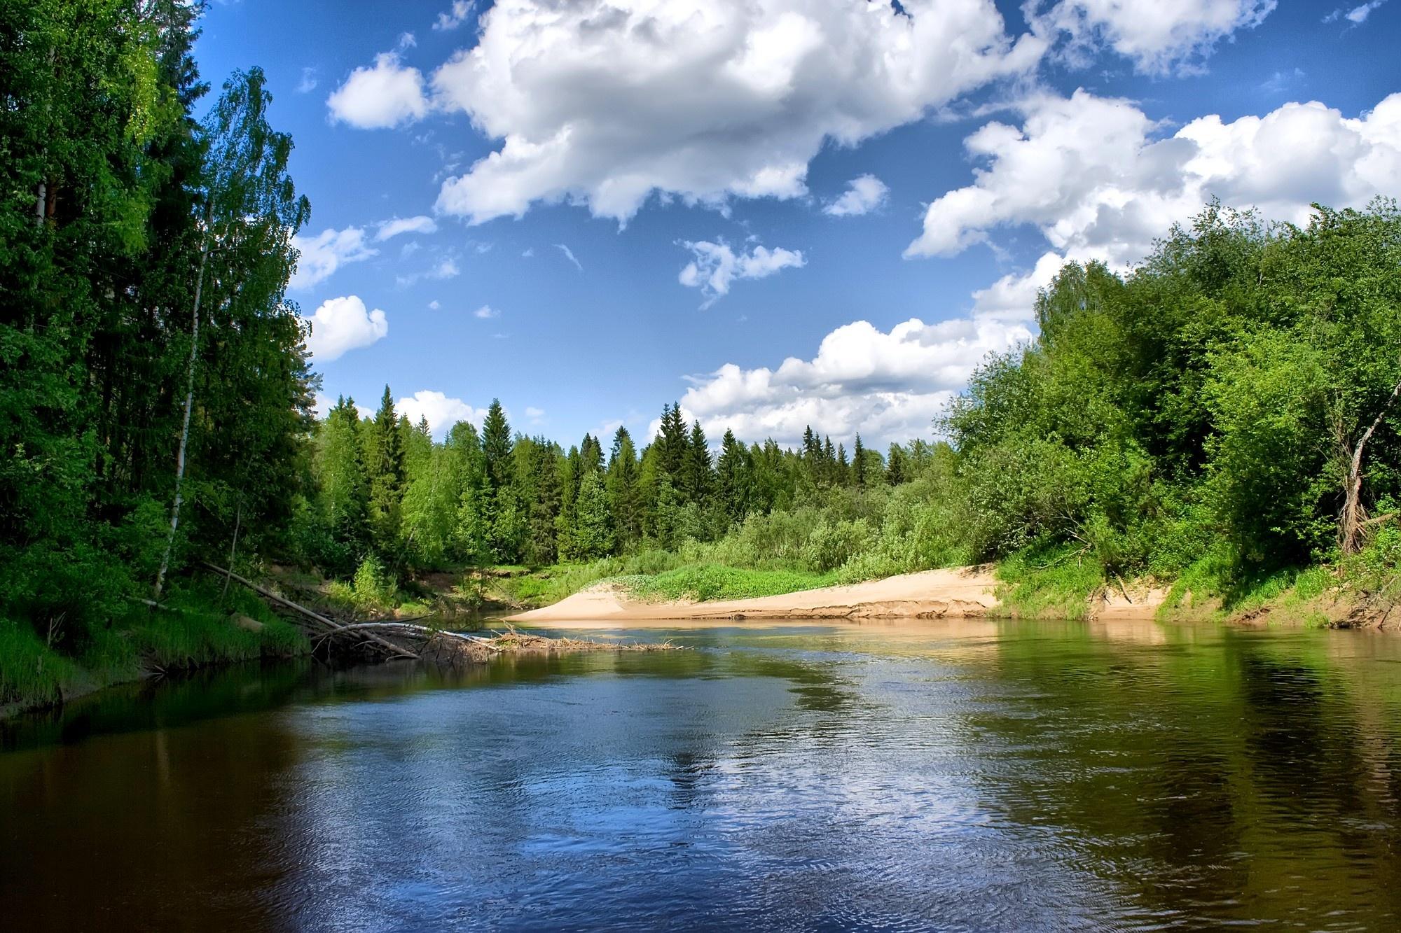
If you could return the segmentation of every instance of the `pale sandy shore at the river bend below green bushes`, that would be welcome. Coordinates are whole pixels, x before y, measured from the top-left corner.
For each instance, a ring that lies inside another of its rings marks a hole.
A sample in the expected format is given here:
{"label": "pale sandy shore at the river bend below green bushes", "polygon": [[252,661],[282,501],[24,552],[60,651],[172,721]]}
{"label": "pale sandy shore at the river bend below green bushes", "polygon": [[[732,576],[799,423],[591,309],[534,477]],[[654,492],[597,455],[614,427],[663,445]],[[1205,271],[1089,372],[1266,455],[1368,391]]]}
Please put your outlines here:
{"label": "pale sandy shore at the river bend below green bushes", "polygon": [[[509,618],[510,622],[598,628],[647,622],[804,621],[804,619],[975,619],[998,608],[991,567],[955,567],[905,573],[845,587],[803,590],[755,600],[647,602],[618,587],[600,586],[553,605]],[[1164,591],[1105,594],[1094,607],[1103,621],[1147,621]]]}

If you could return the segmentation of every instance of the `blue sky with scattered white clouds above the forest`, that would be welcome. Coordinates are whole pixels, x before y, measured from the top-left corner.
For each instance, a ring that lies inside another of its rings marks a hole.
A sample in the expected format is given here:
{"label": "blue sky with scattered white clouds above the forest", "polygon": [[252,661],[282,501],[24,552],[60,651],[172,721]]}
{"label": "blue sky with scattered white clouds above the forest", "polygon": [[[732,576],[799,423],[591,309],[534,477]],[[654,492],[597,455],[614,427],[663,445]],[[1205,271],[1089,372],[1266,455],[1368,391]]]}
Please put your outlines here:
{"label": "blue sky with scattered white clouds above the forest", "polygon": [[849,444],[933,436],[1065,259],[1401,195],[1398,39],[1384,0],[240,0],[196,55],[296,139],[326,396]]}

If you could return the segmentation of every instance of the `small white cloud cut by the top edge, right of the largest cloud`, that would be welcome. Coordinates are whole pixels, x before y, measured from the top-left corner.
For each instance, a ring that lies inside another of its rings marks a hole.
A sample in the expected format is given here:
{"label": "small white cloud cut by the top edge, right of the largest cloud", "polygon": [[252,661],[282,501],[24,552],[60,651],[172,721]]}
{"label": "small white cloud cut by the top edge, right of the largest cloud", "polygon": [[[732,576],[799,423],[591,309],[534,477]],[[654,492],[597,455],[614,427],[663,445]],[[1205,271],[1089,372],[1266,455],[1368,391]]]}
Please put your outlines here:
{"label": "small white cloud cut by the top edge, right of the largest cloud", "polygon": [[1028,0],[1024,10],[1047,41],[1065,36],[1063,57],[1073,64],[1104,45],[1138,71],[1164,74],[1199,70],[1217,42],[1259,25],[1275,0]]}

